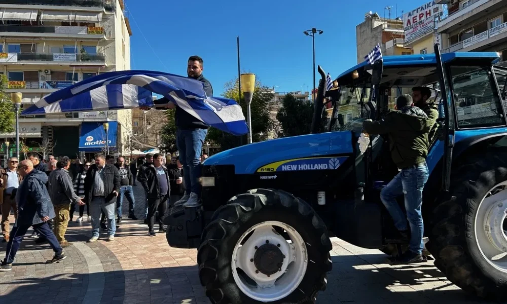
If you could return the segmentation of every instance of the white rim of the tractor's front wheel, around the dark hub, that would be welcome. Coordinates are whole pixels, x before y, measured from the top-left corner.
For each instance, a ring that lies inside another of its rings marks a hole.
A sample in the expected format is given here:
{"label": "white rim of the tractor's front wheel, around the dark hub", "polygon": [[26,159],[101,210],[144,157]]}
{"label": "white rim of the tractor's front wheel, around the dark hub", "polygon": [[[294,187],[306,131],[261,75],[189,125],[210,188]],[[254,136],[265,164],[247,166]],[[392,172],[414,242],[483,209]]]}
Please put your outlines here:
{"label": "white rim of the tractor's front wheel, around the dark hub", "polygon": [[[282,228],[290,240],[278,234],[273,226]],[[253,234],[244,242],[252,231]],[[277,245],[285,256],[281,270],[269,277],[256,273],[256,265],[251,261],[257,251],[256,246],[260,248],[266,241]],[[292,226],[279,221],[265,221],[250,227],[236,243],[231,261],[232,275],[239,289],[248,297],[262,302],[276,301],[295,291],[303,281],[307,265],[308,253],[303,238]]]}

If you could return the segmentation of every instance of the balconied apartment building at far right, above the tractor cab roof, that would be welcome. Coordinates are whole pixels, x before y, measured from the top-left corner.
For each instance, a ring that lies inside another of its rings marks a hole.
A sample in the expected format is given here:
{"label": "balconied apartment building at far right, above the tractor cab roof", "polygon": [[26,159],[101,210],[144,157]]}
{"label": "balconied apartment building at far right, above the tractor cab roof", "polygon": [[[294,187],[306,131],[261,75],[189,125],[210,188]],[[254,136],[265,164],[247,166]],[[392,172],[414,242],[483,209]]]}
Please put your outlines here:
{"label": "balconied apartment building at far right, above the tractor cab roof", "polygon": [[442,51],[498,52],[507,60],[507,0],[439,0],[448,14],[438,23]]}

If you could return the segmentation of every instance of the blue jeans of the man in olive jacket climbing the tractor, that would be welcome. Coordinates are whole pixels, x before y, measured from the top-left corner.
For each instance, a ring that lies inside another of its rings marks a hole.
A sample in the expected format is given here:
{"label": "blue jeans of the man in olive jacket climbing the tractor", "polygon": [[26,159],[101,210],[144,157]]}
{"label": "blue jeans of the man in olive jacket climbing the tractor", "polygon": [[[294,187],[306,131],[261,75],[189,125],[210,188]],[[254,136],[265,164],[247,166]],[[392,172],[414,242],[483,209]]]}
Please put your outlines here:
{"label": "blue jeans of the man in olive jacket climbing the tractor", "polygon": [[[422,222],[422,190],[428,180],[428,166],[426,163],[410,169],[403,169],[385,186],[380,192],[380,199],[394,220],[397,230],[407,231],[407,219],[410,225],[409,250],[414,253],[422,253],[424,242],[422,236],[424,225]],[[396,202],[396,197],[405,196],[405,209],[407,215]]]}

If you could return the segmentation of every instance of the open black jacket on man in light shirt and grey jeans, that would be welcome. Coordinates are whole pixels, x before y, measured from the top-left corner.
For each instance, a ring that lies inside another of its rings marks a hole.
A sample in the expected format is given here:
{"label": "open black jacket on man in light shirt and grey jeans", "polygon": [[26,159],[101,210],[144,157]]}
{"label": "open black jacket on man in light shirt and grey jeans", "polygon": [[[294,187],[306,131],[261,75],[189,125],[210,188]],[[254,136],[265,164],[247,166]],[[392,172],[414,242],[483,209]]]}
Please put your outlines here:
{"label": "open black jacket on man in light shirt and grey jeans", "polygon": [[[87,202],[91,202],[93,198],[93,182],[95,181],[97,169],[97,165],[93,164],[86,172],[85,200]],[[120,173],[115,166],[110,164],[105,164],[103,170],[105,202],[107,204],[116,203],[116,196],[113,192],[116,191],[118,194],[120,193]]]}

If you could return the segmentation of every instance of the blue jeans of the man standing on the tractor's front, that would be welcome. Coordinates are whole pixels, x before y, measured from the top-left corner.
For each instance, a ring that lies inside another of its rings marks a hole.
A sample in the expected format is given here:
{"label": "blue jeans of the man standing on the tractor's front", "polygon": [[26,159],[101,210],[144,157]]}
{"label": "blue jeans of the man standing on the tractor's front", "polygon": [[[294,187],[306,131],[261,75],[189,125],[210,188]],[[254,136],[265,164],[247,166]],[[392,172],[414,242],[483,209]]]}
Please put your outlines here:
{"label": "blue jeans of the man standing on the tractor's front", "polygon": [[[201,187],[197,179],[201,177],[202,144],[208,134],[208,130],[191,129],[176,131],[176,146],[179,151],[179,162],[183,165],[185,185],[190,192],[201,195]],[[190,194],[187,192],[187,194]]]}

